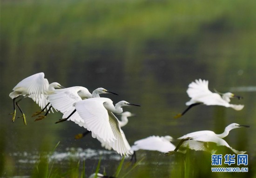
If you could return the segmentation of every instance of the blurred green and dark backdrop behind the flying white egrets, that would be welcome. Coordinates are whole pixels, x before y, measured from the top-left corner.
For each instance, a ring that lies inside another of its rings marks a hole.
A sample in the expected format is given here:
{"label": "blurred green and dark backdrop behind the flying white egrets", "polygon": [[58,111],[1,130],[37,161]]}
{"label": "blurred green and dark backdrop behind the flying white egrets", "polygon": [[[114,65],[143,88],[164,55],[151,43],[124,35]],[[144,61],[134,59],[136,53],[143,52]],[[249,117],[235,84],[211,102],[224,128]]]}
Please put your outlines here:
{"label": "blurred green and dark backdrop behind the flying white egrets", "polygon": [[[234,122],[251,126],[225,138],[233,148],[248,152],[248,173],[212,173],[209,153],[164,157],[141,151],[146,158],[128,177],[255,177],[255,12],[255,0],[2,0],[0,175],[31,175],[33,164],[22,164],[13,155],[48,152],[58,141],[62,152],[68,147],[102,149],[93,138],[74,140],[83,131],[78,125],[55,125],[60,113],[34,122],[30,116],[40,109],[31,99],[20,102],[27,126],[21,119],[11,122],[12,88],[44,72],[50,83],[85,86],[91,92],[104,87],[119,94],[105,96],[114,103],[141,104],[125,109],[136,114],[123,128],[130,145],[151,135],[220,133]],[[211,91],[242,95],[243,100],[232,103],[244,104],[244,109],[202,105],[173,119],[186,107],[189,83],[199,78],[209,80]],[[222,148],[219,153],[230,152]],[[87,162],[88,172],[94,162]],[[111,173],[116,162],[101,164]]]}

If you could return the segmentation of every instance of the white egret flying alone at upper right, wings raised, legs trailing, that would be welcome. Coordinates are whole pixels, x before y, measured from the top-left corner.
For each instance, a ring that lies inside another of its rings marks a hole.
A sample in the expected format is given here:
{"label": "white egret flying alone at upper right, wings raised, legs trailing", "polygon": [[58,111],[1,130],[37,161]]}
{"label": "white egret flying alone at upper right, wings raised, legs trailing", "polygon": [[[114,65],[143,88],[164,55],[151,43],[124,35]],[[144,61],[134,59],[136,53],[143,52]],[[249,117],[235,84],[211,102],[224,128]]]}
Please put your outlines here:
{"label": "white egret flying alone at upper right, wings raised, legs trailing", "polygon": [[195,105],[222,105],[225,107],[231,107],[237,111],[242,110],[244,105],[233,105],[229,104],[230,98],[238,98],[242,99],[240,96],[236,96],[231,92],[226,93],[216,93],[209,91],[208,88],[208,80],[196,79],[195,82],[189,84],[189,88],[187,90],[190,101],[186,102],[186,105],[189,107],[175,116],[175,118],[179,118],[184,115],[189,109],[191,109]]}

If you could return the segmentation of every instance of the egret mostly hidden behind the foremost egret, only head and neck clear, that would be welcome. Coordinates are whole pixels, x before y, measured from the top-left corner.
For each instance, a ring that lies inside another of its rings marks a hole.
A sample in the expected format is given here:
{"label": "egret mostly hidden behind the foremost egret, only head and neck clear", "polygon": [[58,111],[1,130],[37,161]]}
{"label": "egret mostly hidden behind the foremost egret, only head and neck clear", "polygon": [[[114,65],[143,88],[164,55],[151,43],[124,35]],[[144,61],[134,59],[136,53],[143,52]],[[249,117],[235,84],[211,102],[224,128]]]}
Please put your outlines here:
{"label": "egret mostly hidden behind the foremost egret, only head and neck clear", "polygon": [[[120,115],[121,115],[121,120],[118,120],[118,122],[119,122],[120,127],[123,127],[123,126],[127,125],[128,117],[134,116],[135,114],[132,114],[131,112],[126,111],[126,112],[122,112]],[[79,134],[75,135],[74,137],[75,137],[75,139],[80,139],[80,138],[85,137],[88,133],[90,133],[90,131],[79,133]],[[105,143],[101,143],[101,146],[105,147],[107,150],[111,150],[111,147],[105,145]]]}

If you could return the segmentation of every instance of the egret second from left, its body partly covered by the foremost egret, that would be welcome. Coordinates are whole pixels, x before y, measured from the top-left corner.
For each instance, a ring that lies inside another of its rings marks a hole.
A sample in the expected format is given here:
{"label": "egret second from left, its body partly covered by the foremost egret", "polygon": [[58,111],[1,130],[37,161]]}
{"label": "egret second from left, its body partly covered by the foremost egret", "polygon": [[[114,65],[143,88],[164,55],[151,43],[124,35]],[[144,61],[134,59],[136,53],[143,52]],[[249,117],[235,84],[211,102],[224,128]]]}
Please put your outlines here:
{"label": "egret second from left, its body partly covered by the foremost egret", "polygon": [[[51,103],[51,105],[54,106],[56,110],[63,113],[63,118],[66,118],[67,116],[70,115],[71,112],[74,111],[73,104],[75,102],[80,101],[82,99],[100,97],[100,94],[103,94],[103,93],[112,93],[112,94],[118,95],[104,88],[97,88],[91,94],[88,91],[88,89],[83,86],[73,86],[73,87],[59,89],[55,91],[49,91],[47,92],[47,99],[49,100],[49,103]],[[43,112],[43,110],[41,112]],[[47,113],[48,111],[45,113],[44,116],[39,116],[37,119],[35,119],[35,121],[44,119]],[[34,116],[35,115],[38,115],[38,113],[34,114]],[[82,119],[80,119],[78,114],[74,114],[72,118],[70,118],[70,120],[74,122],[82,121]]]}

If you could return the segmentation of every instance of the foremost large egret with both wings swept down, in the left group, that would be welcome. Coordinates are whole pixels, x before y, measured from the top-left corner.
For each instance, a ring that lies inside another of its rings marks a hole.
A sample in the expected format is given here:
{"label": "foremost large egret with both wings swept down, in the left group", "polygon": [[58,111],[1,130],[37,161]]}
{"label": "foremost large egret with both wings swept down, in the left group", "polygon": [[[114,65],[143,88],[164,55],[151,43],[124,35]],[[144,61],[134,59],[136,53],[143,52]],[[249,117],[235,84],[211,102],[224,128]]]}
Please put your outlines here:
{"label": "foremost large egret with both wings swept down, in the left group", "polygon": [[[91,131],[93,138],[108,142],[113,150],[121,155],[127,155],[130,154],[130,145],[113,112],[121,113],[123,112],[122,107],[128,105],[135,104],[120,101],[114,106],[111,99],[90,98],[74,103],[74,111],[77,111],[81,119],[84,120],[84,124],[80,126]],[[60,119],[59,122],[67,120],[70,116],[66,119]]]}

